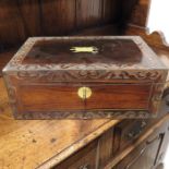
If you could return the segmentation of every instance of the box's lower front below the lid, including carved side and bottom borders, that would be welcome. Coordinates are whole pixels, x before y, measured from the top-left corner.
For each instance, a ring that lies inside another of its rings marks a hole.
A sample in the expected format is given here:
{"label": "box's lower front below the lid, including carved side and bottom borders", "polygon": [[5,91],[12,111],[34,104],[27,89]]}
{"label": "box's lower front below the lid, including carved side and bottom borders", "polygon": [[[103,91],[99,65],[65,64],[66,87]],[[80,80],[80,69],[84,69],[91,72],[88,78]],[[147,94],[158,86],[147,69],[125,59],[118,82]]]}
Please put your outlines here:
{"label": "box's lower front below the lid, including carved side and bottom borders", "polygon": [[16,119],[156,117],[162,86],[154,83],[29,82],[5,76]]}

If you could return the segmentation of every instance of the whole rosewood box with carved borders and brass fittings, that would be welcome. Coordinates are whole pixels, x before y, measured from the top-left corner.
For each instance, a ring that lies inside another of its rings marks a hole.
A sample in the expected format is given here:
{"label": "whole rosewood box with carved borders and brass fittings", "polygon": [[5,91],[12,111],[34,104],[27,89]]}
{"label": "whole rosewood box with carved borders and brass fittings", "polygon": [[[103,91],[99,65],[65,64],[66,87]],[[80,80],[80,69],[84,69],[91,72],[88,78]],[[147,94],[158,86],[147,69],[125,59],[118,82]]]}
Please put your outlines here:
{"label": "whole rosewood box with carved borders and brass fittings", "polygon": [[156,117],[167,74],[138,36],[28,38],[3,69],[15,119]]}

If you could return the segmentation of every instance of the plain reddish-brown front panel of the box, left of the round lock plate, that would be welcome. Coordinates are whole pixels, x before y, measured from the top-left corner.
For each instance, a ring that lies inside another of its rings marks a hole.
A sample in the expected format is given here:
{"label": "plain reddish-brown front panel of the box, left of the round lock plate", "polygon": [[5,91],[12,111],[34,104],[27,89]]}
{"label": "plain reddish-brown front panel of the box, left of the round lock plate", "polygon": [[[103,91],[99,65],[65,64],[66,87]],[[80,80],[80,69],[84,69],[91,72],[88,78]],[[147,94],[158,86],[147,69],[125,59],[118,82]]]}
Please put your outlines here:
{"label": "plain reddish-brown front panel of the box, left of the round lock plate", "polygon": [[[84,100],[77,95],[79,86],[22,85],[19,87],[21,111],[83,110]],[[33,99],[34,98],[34,99]]]}

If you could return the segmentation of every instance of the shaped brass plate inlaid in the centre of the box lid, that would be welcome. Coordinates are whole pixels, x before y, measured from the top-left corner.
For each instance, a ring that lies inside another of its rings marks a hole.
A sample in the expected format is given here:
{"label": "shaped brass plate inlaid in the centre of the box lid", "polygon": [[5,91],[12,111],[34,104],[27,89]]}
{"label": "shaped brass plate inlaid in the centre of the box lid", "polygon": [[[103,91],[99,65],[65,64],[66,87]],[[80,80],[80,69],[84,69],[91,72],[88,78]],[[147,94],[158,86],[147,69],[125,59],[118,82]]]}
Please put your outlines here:
{"label": "shaped brass plate inlaid in the centre of the box lid", "polygon": [[70,50],[72,52],[89,52],[89,53],[98,52],[98,49],[96,47],[72,47]]}

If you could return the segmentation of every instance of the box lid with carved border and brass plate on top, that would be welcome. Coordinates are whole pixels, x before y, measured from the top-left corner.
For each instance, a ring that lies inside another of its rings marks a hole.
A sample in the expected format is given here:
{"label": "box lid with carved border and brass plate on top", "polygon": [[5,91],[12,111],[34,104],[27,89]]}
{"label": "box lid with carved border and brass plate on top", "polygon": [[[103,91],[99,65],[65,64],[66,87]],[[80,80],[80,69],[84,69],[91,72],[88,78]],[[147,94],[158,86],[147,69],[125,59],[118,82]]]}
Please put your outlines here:
{"label": "box lid with carved border and brass plate on top", "polygon": [[166,81],[168,72],[138,36],[28,38],[5,71],[20,72],[19,76],[31,76],[31,80],[50,75],[51,81],[59,82],[134,80],[160,83]]}

